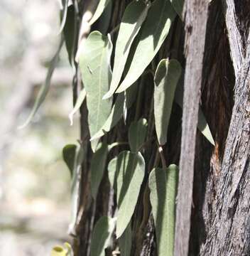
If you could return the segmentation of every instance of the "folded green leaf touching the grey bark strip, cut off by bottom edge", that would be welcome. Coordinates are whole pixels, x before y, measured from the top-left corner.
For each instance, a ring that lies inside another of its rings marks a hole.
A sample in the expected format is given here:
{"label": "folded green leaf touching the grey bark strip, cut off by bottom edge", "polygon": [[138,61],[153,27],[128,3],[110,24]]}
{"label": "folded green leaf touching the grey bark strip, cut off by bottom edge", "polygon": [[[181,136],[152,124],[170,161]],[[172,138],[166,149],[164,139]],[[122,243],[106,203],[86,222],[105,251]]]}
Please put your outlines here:
{"label": "folded green leaf touching the grey bark strip, cut off by bottom edge", "polygon": [[173,256],[175,241],[175,198],[177,195],[178,166],[156,168],[148,180],[153,220],[156,226],[158,256]]}

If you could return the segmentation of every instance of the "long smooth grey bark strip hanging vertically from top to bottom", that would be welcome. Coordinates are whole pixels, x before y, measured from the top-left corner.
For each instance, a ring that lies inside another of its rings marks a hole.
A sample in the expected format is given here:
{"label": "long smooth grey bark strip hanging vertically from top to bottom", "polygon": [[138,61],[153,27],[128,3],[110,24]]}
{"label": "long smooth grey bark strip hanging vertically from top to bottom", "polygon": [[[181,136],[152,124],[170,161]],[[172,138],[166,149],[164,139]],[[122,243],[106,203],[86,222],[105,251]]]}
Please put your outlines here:
{"label": "long smooth grey bark strip hanging vertically from top to bottom", "polygon": [[185,68],[183,132],[180,154],[180,176],[175,224],[175,256],[188,255],[192,183],[195,161],[197,114],[202,83],[202,61],[205,48],[209,1],[185,1]]}

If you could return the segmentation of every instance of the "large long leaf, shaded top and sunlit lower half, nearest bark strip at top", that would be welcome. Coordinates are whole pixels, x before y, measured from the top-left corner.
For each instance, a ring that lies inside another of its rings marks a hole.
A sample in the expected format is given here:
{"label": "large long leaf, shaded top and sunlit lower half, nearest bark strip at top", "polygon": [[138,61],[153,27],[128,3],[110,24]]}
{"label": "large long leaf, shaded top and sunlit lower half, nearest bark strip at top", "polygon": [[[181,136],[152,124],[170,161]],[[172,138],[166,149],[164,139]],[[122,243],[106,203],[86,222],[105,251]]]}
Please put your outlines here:
{"label": "large long leaf, shaded top and sunlit lower half, nearest bark strip at top", "polygon": [[[146,21],[141,33],[138,34],[138,44],[132,56],[129,70],[116,92],[123,92],[131,86],[151,63],[163,41],[168,36],[170,25],[176,14],[170,1],[155,0],[148,10]],[[132,47],[133,48],[133,47]]]}

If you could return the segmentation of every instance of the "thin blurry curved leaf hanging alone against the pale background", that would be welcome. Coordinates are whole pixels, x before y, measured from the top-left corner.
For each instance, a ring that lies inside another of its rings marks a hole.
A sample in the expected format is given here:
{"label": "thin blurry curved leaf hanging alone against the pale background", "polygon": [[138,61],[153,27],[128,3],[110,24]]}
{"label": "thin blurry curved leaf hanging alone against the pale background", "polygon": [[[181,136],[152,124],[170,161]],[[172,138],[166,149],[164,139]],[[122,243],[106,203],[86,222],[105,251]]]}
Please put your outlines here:
{"label": "thin blurry curved leaf hanging alone against the pale background", "polygon": [[26,127],[31,122],[31,119],[34,117],[34,115],[38,111],[38,108],[45,100],[45,97],[47,96],[48,90],[50,88],[50,81],[51,81],[52,75],[54,73],[55,66],[58,64],[59,53],[62,48],[63,42],[64,42],[63,37],[61,37],[60,44],[58,46],[58,50],[56,51],[54,57],[50,61],[50,67],[48,68],[48,73],[46,75],[45,82],[44,82],[43,86],[40,87],[40,90],[38,92],[38,97],[36,97],[36,101],[33,106],[33,109],[31,110],[31,114],[28,116],[26,122],[23,125],[21,125],[20,127],[18,127],[19,129]]}

